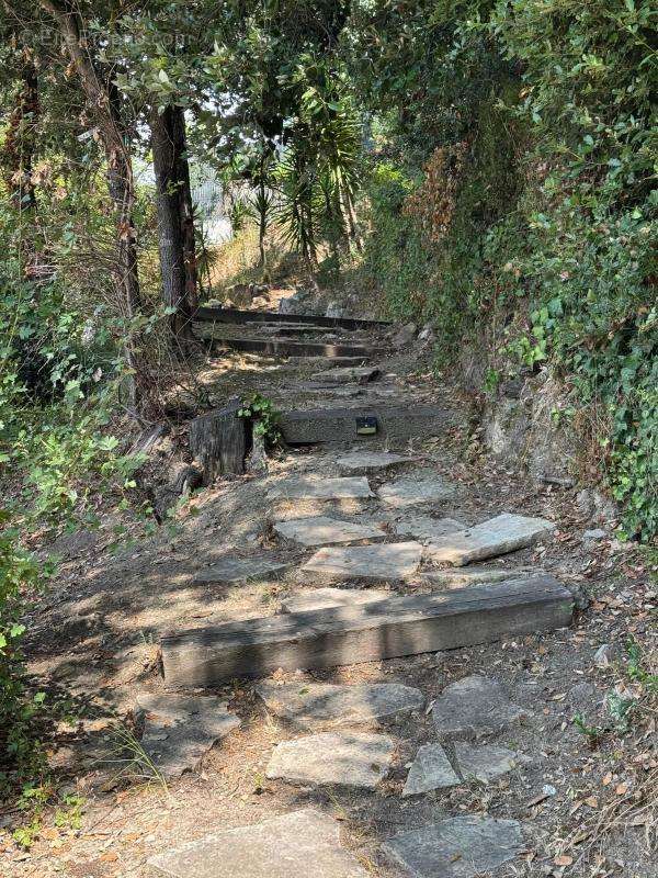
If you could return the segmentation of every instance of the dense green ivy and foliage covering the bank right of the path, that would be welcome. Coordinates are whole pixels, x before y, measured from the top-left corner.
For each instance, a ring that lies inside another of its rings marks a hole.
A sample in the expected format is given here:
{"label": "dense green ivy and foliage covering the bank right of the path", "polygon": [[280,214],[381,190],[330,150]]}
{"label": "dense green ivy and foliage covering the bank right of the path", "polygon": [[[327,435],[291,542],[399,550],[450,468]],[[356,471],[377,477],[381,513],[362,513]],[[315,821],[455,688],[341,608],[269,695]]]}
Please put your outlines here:
{"label": "dense green ivy and foliage covering the bank right of the path", "polygon": [[[365,4],[364,4],[365,5]],[[591,432],[628,536],[658,532],[658,8],[382,0],[365,279],[488,347],[487,386],[543,365]]]}

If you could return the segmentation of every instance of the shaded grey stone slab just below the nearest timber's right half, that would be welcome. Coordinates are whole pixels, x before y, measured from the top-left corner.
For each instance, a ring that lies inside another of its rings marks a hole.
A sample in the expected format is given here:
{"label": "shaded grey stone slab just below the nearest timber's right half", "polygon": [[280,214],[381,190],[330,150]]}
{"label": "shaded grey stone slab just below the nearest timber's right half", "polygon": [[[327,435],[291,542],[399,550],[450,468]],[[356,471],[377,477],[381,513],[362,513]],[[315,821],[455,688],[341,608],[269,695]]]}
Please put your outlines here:
{"label": "shaded grey stone slab just below the nearest timber's right half", "polygon": [[436,731],[444,739],[480,738],[531,716],[510,701],[498,680],[478,675],[446,686],[432,710]]}

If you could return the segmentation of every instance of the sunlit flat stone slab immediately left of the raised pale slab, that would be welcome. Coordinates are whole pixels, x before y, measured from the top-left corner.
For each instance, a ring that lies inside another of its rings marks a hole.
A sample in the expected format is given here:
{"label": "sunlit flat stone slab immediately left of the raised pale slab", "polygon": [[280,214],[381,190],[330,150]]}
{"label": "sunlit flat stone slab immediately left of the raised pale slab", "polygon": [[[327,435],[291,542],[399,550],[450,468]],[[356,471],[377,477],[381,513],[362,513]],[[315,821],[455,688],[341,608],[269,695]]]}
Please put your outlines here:
{"label": "sunlit flat stone slab immediately left of the raised pale slab", "polygon": [[406,579],[420,566],[422,545],[419,542],[388,542],[378,545],[354,545],[348,549],[320,549],[302,570],[336,579]]}

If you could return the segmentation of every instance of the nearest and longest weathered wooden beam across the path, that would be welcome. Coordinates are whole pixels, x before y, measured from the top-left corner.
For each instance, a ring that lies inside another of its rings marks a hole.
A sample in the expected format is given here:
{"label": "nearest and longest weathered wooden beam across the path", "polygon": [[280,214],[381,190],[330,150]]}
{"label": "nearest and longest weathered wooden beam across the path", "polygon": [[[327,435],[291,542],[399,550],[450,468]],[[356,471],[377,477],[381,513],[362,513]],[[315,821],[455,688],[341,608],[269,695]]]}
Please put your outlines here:
{"label": "nearest and longest weathered wooden beam across the path", "polygon": [[489,643],[569,624],[574,600],[553,576],[183,631],[161,640],[168,686],[214,686],[279,667],[332,667]]}

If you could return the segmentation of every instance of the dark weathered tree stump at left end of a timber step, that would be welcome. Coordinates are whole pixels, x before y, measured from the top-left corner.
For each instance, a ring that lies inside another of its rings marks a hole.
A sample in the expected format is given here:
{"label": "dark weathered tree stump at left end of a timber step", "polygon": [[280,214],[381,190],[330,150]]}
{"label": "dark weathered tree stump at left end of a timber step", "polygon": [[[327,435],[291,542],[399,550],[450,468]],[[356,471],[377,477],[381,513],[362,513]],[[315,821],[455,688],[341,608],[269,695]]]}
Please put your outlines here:
{"label": "dark weathered tree stump at left end of a timber step", "polygon": [[218,475],[245,472],[245,458],[251,449],[251,424],[239,418],[242,407],[231,399],[225,408],[217,408],[194,418],[190,424],[190,451],[203,471],[203,484],[212,484]]}

